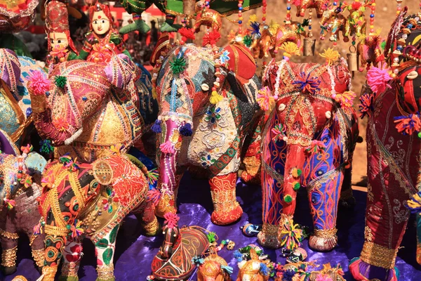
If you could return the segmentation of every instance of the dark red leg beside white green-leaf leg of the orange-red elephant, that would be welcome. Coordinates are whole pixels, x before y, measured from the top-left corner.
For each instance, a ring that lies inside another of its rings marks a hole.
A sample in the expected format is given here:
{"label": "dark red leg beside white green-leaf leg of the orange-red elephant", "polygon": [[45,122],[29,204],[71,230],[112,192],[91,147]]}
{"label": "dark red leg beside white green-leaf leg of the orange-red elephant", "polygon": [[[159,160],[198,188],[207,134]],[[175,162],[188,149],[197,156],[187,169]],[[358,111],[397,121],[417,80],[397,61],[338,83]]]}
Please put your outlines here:
{"label": "dark red leg beside white green-leaf leg of the orange-red elephant", "polygon": [[63,254],[63,266],[59,281],[77,281],[77,272],[81,263],[82,244],[80,241],[67,241]]}

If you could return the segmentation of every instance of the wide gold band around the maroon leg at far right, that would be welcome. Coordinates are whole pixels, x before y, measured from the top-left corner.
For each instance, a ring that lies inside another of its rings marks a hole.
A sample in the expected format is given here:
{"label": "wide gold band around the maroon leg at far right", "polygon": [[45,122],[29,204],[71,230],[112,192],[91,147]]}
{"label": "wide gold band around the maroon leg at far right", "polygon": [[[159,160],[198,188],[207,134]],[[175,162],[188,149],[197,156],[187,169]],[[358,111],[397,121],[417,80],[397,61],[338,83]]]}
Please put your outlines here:
{"label": "wide gold band around the maroon leg at far right", "polygon": [[395,264],[398,249],[389,249],[373,242],[364,242],[361,251],[361,261],[372,266],[392,269]]}

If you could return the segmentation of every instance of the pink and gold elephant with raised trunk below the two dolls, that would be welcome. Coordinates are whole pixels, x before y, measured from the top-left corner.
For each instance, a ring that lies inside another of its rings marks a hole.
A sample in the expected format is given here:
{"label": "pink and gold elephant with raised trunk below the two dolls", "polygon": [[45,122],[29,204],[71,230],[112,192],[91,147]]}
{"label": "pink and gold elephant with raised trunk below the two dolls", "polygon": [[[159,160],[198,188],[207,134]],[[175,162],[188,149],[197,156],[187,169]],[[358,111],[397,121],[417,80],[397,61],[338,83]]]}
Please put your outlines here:
{"label": "pink and gold elephant with raised trunk below the two dolls", "polygon": [[34,73],[29,93],[35,127],[41,138],[52,141],[57,155],[93,162],[110,155],[114,144],[126,152],[147,120],[156,118],[149,77],[126,55],[108,64],[66,61],[49,77]]}

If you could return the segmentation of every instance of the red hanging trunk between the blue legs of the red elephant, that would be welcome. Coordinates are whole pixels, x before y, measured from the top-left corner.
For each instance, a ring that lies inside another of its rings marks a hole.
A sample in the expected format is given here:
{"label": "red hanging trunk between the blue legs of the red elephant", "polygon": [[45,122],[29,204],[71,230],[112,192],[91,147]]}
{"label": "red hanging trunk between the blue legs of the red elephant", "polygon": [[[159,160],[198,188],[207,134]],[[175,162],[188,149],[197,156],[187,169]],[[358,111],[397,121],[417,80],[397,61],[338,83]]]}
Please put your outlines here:
{"label": "red hanging trunk between the blue legs of the red elephant", "polygon": [[302,167],[305,164],[305,147],[298,144],[288,144],[283,178],[283,214],[293,216],[297,190],[301,186]]}

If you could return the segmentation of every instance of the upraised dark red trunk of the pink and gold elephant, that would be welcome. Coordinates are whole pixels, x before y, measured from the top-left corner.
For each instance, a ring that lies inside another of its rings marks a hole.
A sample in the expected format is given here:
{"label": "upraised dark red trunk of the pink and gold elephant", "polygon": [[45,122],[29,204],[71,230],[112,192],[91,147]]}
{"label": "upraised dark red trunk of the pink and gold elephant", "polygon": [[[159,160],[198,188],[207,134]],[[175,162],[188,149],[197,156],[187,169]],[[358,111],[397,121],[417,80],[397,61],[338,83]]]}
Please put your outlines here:
{"label": "upraised dark red trunk of the pink and gold elephant", "polygon": [[29,87],[34,114],[34,124],[41,138],[49,139],[55,146],[68,145],[80,136],[81,129],[74,128],[66,119],[53,122],[51,109],[48,108],[46,95],[35,94]]}

